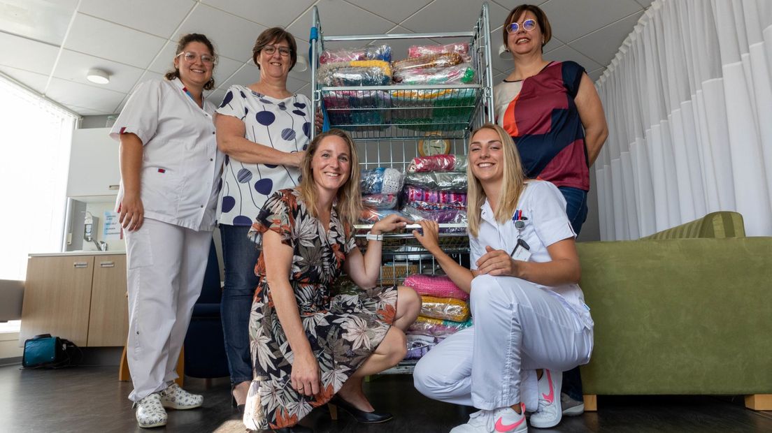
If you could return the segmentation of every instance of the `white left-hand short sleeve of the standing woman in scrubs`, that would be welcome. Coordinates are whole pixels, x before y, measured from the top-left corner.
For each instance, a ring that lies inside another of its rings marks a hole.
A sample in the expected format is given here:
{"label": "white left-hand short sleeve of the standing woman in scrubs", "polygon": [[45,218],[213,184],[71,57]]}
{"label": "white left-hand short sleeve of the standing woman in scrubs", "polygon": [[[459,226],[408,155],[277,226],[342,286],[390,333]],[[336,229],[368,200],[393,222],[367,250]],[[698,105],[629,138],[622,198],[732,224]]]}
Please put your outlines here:
{"label": "white left-hand short sleeve of the standing woman in scrubs", "polygon": [[110,129],[110,137],[120,141],[120,134],[134,133],[146,145],[158,127],[163,85],[163,82],[153,80],[137,86]]}

